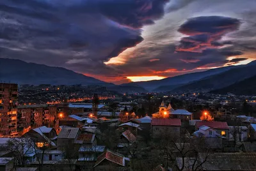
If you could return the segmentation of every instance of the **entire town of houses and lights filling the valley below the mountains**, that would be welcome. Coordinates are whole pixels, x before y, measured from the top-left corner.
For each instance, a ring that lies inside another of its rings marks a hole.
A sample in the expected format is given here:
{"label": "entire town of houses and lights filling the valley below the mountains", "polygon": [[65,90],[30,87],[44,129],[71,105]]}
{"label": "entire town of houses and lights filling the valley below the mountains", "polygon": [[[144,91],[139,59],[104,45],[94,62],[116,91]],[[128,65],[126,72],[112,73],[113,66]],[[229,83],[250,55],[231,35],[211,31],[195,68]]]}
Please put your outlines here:
{"label": "entire town of houses and lights filling the valley below the mountains", "polygon": [[256,170],[255,98],[0,83],[0,170]]}

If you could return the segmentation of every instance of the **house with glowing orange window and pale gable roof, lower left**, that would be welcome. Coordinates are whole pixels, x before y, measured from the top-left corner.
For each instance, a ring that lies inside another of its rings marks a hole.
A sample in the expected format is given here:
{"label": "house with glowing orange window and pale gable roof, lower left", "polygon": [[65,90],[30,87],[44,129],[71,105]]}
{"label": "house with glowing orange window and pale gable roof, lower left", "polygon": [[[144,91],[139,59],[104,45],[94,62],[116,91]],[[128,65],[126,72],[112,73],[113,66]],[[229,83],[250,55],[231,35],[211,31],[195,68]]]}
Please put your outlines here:
{"label": "house with glowing orange window and pale gable roof, lower left", "polygon": [[37,147],[56,147],[57,133],[53,128],[41,126],[28,131],[22,137],[29,137],[36,142]]}

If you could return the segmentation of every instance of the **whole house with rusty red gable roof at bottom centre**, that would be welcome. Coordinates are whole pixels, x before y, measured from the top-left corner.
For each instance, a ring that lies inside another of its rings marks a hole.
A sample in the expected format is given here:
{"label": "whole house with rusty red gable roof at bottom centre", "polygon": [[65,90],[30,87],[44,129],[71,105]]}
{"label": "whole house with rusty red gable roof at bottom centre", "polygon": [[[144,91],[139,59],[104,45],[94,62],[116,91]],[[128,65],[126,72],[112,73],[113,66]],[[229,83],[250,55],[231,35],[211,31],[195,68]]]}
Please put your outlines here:
{"label": "whole house with rusty red gable roof at bottom centre", "polygon": [[94,170],[128,170],[127,165],[130,159],[125,158],[122,154],[106,150],[97,158],[94,165]]}

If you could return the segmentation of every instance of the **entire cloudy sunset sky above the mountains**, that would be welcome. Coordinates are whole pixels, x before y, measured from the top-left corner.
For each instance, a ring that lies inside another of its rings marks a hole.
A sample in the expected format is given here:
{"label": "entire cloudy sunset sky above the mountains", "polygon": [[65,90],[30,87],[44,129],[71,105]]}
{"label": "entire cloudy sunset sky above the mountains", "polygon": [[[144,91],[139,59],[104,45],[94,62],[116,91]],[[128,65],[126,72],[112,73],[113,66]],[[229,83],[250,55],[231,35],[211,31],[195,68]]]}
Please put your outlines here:
{"label": "entire cloudy sunset sky above the mountains", "polygon": [[1,0],[0,57],[122,84],[256,56],[256,0]]}

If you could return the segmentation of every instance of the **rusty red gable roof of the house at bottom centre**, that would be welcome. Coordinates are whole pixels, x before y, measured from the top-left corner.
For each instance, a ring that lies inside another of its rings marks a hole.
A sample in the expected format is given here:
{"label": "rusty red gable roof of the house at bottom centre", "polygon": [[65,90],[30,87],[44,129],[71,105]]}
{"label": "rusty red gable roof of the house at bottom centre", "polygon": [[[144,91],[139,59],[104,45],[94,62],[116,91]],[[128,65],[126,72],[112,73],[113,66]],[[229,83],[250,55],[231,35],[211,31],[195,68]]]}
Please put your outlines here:
{"label": "rusty red gable roof of the house at bottom centre", "polygon": [[103,161],[104,159],[108,160],[108,161],[112,161],[113,163],[116,163],[118,165],[122,165],[122,166],[125,166],[125,163],[124,163],[124,156],[121,156],[119,154],[116,154],[115,152],[112,152],[112,151],[105,151],[103,152],[98,158],[97,158],[97,161],[95,163],[95,166],[96,167],[97,165],[99,165],[99,163],[101,161]]}

